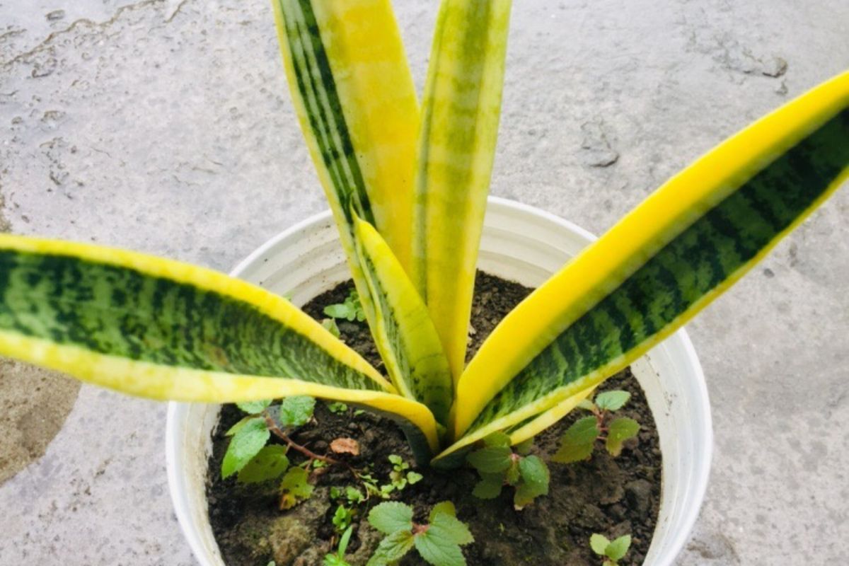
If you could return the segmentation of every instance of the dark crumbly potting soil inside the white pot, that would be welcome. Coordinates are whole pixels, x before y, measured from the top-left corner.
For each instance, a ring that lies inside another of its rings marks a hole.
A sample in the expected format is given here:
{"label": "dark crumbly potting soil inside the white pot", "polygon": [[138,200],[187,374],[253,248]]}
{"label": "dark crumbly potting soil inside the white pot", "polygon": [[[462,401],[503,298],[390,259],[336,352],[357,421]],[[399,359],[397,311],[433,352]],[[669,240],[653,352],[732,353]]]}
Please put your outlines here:
{"label": "dark crumbly potting soil inside the white pot", "polygon": [[[321,294],[304,306],[304,311],[321,320],[323,307],[345,300],[351,283]],[[469,356],[480,347],[498,321],[522,300],[531,289],[498,277],[478,272]],[[338,322],[341,338],[379,369],[380,356],[365,322]],[[576,418],[586,416],[577,410],[551,429],[537,435],[533,453],[543,457],[551,470],[548,496],[537,498],[521,511],[514,510],[513,490],[505,487],[497,499],[482,501],[471,496],[477,481],[468,468],[441,472],[424,468],[424,479],[408,485],[392,497],[412,505],[417,519],[426,520],[435,503],[452,501],[458,518],[469,524],[475,542],[464,546],[469,566],[598,566],[603,560],[589,547],[589,537],[600,533],[611,540],[633,535],[633,545],[624,565],[643,563],[657,522],[661,501],[661,451],[655,422],[642,389],[626,370],[610,378],[601,389],[626,389],[631,401],[617,414],[633,417],[642,425],[638,439],[629,440],[621,456],[610,457],[598,448],[588,462],[559,464],[548,461],[559,447],[559,437]],[[580,414],[579,414],[580,413]],[[329,488],[357,485],[351,474],[340,466],[321,468],[313,474],[316,488],[306,502],[280,511],[274,482],[268,485],[239,485],[234,479],[222,480],[219,470],[227,437],[224,431],[243,415],[235,406],[222,408],[221,423],[213,435],[213,451],[207,477],[207,496],[212,530],[228,566],[320,566],[325,553],[338,541],[331,518],[337,502],[331,502]],[[368,412],[330,412],[323,402],[316,404],[315,420],[292,434],[295,442],[319,454],[329,450],[337,438],[353,438],[360,455],[348,457],[355,468],[373,466],[373,475],[387,483],[391,472],[388,457],[402,456],[413,463],[400,429],[391,421]],[[600,443],[599,443],[600,444]],[[293,463],[303,457],[289,451]],[[336,456],[335,456],[336,457]],[[368,525],[368,509],[379,503],[372,497],[360,506],[354,519],[354,535],[346,559],[351,566],[368,561],[382,535]],[[403,558],[402,566],[424,566],[415,552]]]}

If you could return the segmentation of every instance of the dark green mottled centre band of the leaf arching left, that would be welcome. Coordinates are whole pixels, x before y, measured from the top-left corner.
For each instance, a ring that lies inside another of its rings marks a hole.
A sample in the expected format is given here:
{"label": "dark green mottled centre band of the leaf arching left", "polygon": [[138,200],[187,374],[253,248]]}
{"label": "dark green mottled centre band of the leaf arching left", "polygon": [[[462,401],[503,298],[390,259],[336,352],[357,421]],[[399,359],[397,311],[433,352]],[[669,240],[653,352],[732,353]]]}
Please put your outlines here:
{"label": "dark green mottled centre band of the leaf arching left", "polygon": [[212,372],[382,390],[242,300],[125,266],[0,249],[0,330]]}

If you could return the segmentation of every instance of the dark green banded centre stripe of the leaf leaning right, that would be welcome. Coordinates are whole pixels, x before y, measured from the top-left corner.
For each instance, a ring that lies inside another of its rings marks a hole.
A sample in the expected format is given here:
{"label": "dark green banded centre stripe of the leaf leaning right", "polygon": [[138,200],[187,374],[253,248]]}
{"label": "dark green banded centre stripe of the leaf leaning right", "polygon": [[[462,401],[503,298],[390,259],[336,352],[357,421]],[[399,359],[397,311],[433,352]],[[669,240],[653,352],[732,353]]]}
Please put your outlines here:
{"label": "dark green banded centre stripe of the leaf leaning right", "polygon": [[849,109],[843,109],[693,221],[554,339],[486,405],[472,430],[576,384],[671,325],[792,227],[847,166]]}

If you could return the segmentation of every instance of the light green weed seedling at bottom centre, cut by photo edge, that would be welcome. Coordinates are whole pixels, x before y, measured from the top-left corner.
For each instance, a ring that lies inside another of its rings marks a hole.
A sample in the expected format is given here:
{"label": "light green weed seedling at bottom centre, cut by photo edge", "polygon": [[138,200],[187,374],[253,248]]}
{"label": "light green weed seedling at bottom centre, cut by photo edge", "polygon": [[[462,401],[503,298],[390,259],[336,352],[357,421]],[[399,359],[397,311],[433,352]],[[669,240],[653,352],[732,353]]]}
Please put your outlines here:
{"label": "light green weed seedling at bottom centre, cut by photo edge", "polygon": [[384,502],[368,513],[368,523],[385,538],[366,566],[395,564],[415,546],[433,566],[465,566],[460,546],[475,541],[469,526],[457,518],[452,502],[437,503],[428,524],[413,523],[413,507],[401,502]]}

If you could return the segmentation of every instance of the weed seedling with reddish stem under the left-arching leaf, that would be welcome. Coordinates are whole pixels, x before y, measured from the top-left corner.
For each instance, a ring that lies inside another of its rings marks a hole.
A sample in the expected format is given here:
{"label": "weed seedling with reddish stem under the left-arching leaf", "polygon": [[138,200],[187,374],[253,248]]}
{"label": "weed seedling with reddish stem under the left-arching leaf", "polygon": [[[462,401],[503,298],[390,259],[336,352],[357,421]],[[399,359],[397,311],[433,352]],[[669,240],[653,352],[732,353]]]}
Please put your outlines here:
{"label": "weed seedling with reddish stem under the left-arching leaf", "polygon": [[[308,468],[334,463],[291,440],[288,431],[303,426],[312,418],[315,399],[307,396],[286,397],[277,405],[272,401],[238,403],[247,416],[227,431],[231,437],[221,465],[222,478],[233,474],[243,484],[258,484],[283,476],[280,482],[280,508],[290,509],[312,496]],[[274,434],[286,446],[268,444]],[[290,466],[290,449],[307,457],[300,466]]]}

